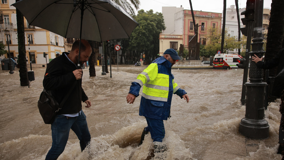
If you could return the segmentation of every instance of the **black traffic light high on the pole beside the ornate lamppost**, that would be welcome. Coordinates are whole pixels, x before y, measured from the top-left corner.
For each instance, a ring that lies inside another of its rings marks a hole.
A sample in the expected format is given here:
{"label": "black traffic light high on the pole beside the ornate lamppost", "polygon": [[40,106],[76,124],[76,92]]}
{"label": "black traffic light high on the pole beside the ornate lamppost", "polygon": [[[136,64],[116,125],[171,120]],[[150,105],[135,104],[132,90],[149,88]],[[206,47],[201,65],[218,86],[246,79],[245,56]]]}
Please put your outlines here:
{"label": "black traffic light high on the pole beside the ornate lamppost", "polygon": [[246,25],[246,27],[241,28],[241,32],[245,36],[247,36],[247,32],[248,32],[247,31],[248,22],[254,21],[254,8],[255,8],[255,0],[247,0],[246,10],[241,13],[241,15],[245,15],[245,18],[241,18],[243,25]]}

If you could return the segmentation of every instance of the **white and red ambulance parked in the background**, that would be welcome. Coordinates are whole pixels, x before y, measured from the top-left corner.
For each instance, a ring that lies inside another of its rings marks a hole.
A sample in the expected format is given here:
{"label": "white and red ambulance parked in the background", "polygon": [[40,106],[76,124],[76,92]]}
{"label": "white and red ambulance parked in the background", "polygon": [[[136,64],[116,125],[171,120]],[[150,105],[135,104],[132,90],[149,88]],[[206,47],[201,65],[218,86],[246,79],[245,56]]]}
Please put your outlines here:
{"label": "white and red ambulance parked in the background", "polygon": [[228,55],[224,53],[216,54],[213,62],[213,69],[232,69],[238,68],[238,59],[243,58],[241,55]]}

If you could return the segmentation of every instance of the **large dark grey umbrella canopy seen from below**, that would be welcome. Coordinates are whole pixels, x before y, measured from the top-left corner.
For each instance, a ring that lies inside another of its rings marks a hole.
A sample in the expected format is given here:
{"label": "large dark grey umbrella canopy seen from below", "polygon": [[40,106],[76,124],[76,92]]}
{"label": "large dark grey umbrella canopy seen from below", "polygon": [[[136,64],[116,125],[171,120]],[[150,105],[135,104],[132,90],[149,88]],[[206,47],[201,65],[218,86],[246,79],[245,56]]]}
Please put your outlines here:
{"label": "large dark grey umbrella canopy seen from below", "polygon": [[99,42],[129,38],[138,25],[111,0],[20,0],[12,6],[25,16],[29,25],[65,38]]}

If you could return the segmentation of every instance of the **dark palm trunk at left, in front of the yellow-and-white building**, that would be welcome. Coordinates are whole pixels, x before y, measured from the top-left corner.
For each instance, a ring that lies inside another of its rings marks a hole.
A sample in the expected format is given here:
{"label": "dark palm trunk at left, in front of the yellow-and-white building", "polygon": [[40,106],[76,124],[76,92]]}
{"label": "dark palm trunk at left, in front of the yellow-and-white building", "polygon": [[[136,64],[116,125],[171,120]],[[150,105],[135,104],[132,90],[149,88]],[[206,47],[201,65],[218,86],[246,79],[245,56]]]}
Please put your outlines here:
{"label": "dark palm trunk at left, in front of the yellow-and-white building", "polygon": [[24,16],[18,9],[16,9],[16,18],[17,18],[17,32],[18,32],[18,50],[19,50],[18,51],[19,52],[18,65],[20,68],[19,69],[20,85],[28,86],[29,80],[28,80],[28,69],[27,69],[27,61],[26,61]]}

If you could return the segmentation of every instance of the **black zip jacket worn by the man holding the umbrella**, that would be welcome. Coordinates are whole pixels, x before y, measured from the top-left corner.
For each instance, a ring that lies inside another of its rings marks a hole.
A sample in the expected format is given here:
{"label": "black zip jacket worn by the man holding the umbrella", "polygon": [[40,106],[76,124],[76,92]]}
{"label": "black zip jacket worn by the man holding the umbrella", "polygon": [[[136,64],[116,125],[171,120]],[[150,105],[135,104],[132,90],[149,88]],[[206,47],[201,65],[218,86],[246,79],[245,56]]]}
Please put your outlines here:
{"label": "black zip jacket worn by the man holding the umbrella", "polygon": [[70,62],[64,53],[66,55],[69,54],[63,52],[61,56],[56,57],[47,65],[43,78],[43,87],[45,90],[51,90],[55,99],[60,104],[76,81],[76,86],[58,114],[78,113],[82,110],[81,101],[86,101],[88,97],[82,88],[82,78],[76,80],[73,74],[73,71],[76,70],[76,65]]}

